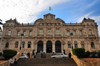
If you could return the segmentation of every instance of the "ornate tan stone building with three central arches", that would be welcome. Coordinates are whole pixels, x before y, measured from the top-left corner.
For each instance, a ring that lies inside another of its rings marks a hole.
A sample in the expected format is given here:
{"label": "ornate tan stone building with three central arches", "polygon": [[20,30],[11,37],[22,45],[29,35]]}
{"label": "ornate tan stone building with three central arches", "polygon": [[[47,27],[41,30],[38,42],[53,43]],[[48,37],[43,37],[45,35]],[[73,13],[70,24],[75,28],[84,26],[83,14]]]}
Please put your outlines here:
{"label": "ornate tan stone building with three central arches", "polygon": [[16,19],[10,19],[3,25],[1,50],[19,50],[20,46],[26,54],[33,50],[69,53],[72,47],[82,47],[86,51],[100,50],[98,25],[90,18],[84,18],[81,23],[65,23],[50,13],[34,24],[20,24]]}

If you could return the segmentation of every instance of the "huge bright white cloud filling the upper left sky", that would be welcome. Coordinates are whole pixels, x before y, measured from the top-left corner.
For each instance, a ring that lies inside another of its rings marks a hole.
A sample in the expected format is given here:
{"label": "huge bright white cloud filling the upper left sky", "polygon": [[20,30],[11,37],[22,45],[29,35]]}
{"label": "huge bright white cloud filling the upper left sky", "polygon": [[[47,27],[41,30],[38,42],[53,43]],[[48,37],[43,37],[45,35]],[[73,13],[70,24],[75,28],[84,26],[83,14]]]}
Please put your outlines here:
{"label": "huge bright white cloud filling the upper left sky", "polygon": [[56,4],[69,0],[0,0],[0,19],[16,18],[20,23],[30,23],[37,15]]}

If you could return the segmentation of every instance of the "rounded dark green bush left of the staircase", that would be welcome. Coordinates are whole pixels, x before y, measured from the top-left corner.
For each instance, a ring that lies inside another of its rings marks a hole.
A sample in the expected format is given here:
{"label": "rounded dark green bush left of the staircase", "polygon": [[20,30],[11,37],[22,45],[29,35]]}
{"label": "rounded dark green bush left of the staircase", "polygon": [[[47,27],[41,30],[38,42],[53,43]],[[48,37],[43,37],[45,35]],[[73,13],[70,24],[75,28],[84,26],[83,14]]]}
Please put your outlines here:
{"label": "rounded dark green bush left of the staircase", "polygon": [[17,51],[12,50],[12,49],[5,49],[5,50],[3,50],[3,56],[4,56],[6,59],[10,59],[10,58],[12,58],[13,56],[15,56],[16,54],[17,54]]}

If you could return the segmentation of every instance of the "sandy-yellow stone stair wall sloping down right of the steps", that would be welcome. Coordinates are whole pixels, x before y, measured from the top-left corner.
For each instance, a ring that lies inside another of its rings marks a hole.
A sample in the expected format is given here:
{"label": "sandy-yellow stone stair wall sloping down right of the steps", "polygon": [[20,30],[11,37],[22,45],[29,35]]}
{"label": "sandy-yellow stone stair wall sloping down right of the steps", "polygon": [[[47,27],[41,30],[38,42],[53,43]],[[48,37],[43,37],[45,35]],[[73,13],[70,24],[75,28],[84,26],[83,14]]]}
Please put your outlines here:
{"label": "sandy-yellow stone stair wall sloping down right of the steps", "polygon": [[78,66],[92,66],[92,64],[87,63],[77,58],[77,56],[73,55],[72,51],[71,51],[71,54],[72,54],[71,58],[73,58],[73,60],[76,62]]}

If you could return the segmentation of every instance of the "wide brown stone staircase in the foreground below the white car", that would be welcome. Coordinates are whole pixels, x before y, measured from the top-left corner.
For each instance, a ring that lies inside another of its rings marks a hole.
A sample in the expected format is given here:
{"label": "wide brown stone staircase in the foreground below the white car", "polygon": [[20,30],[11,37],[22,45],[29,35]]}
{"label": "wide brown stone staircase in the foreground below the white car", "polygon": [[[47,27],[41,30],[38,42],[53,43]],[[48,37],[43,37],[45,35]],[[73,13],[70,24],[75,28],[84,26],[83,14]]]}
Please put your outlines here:
{"label": "wide brown stone staircase in the foreground below the white car", "polygon": [[20,58],[19,66],[77,66],[72,58]]}

